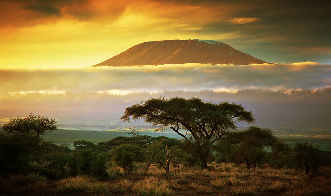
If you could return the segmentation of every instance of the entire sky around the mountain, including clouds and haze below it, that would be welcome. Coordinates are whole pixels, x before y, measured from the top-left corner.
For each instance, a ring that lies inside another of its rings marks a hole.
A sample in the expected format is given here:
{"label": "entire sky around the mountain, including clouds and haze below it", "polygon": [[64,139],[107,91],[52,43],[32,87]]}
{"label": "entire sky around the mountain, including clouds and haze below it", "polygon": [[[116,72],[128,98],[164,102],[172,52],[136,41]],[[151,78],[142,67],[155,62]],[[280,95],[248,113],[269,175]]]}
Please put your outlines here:
{"label": "entire sky around the mountain, including clouds and haze below it", "polygon": [[[329,131],[330,7],[319,0],[1,0],[0,124],[32,112],[60,128],[107,130],[135,102],[178,96],[242,104],[257,126]],[[170,39],[221,41],[272,63],[86,68]]]}

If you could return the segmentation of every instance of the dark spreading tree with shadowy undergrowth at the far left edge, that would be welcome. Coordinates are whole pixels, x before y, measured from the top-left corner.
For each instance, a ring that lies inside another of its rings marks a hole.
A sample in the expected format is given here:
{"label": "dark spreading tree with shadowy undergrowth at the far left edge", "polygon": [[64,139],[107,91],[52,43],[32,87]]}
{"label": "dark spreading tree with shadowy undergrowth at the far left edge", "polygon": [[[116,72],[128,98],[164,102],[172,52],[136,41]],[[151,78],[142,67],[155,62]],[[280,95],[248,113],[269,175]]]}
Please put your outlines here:
{"label": "dark spreading tree with shadowy undergrowth at the far left edge", "polygon": [[54,144],[41,137],[57,129],[56,121],[49,117],[29,113],[2,125],[0,134],[0,173],[3,175],[30,171],[31,161],[39,162],[42,155],[54,149]]}

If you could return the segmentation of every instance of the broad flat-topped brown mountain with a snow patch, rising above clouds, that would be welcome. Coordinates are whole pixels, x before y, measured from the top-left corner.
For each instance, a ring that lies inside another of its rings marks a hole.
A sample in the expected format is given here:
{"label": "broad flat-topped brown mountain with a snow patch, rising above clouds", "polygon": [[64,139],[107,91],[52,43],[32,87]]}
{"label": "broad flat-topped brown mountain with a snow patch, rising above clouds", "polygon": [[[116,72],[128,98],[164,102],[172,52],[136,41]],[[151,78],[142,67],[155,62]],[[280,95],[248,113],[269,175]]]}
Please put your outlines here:
{"label": "broad flat-topped brown mountain with a snow patch, rising above clouds", "polygon": [[183,63],[247,65],[265,61],[213,40],[163,40],[144,42],[97,66],[132,66]]}

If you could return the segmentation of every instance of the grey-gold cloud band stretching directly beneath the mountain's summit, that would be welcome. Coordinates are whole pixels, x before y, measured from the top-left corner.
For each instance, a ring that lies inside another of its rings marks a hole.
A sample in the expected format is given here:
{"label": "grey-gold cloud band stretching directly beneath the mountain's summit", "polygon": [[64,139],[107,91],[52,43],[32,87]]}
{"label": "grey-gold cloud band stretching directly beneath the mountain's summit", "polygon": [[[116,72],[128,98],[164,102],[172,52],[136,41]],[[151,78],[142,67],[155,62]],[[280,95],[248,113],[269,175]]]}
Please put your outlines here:
{"label": "grey-gold cloud band stretching directly beneath the mountain's summit", "polygon": [[84,69],[0,69],[1,96],[96,93],[126,96],[164,91],[214,93],[322,91],[331,87],[331,65],[292,64],[183,65]]}

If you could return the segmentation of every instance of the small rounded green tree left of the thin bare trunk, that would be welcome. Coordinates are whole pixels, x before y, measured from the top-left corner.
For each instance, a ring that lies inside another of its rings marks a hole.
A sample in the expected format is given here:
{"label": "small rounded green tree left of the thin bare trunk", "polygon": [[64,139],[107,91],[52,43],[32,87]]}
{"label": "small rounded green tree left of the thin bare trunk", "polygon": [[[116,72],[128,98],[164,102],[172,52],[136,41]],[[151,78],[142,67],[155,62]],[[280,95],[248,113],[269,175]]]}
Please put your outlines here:
{"label": "small rounded green tree left of the thin bare trunk", "polygon": [[135,162],[145,160],[143,150],[132,144],[122,144],[114,148],[111,152],[113,160],[130,175]]}

